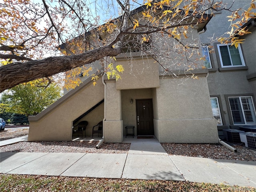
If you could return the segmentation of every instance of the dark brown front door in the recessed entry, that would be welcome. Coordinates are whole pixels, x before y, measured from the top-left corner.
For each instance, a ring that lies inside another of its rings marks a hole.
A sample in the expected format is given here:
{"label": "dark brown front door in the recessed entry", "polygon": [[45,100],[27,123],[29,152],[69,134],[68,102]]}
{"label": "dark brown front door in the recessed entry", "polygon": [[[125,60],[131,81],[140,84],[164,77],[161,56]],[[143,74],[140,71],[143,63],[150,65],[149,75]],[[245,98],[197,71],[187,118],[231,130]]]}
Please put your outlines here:
{"label": "dark brown front door in the recessed entry", "polygon": [[152,99],[136,100],[137,134],[154,135]]}

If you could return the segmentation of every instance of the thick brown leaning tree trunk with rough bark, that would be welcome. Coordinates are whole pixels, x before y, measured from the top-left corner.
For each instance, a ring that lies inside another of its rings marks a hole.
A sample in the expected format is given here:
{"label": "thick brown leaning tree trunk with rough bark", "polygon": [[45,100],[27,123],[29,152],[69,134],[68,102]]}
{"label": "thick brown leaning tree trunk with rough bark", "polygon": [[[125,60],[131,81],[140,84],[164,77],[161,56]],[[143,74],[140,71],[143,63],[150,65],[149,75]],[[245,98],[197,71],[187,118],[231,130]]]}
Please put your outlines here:
{"label": "thick brown leaning tree trunk with rough bark", "polygon": [[120,48],[104,46],[78,55],[56,56],[42,60],[4,65],[0,67],[0,92],[24,82],[49,77],[85,64],[90,64],[105,56],[116,56],[120,53]]}

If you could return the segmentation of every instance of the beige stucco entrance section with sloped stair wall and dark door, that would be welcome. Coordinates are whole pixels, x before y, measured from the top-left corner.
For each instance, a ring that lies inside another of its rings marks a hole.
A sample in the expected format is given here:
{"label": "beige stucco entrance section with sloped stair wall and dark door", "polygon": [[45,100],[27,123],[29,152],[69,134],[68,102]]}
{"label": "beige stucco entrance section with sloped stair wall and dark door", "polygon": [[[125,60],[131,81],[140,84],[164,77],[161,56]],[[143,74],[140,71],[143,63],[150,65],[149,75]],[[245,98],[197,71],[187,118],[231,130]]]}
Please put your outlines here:
{"label": "beige stucco entrance section with sloped stair wall and dark door", "polygon": [[[129,68],[122,56],[116,60]],[[142,65],[147,68],[142,70]],[[86,136],[91,136],[92,126],[105,114],[105,142],[122,142],[126,126],[134,126],[135,135],[154,135],[160,142],[218,142],[207,69],[196,71],[198,80],[188,78],[180,85],[176,78],[159,75],[158,64],[152,59],[145,63],[136,58],[134,72],[129,71],[117,81],[102,76],[106,85],[98,80],[93,86],[87,79],[40,114],[30,116],[28,140],[72,140],[73,121],[104,100],[79,120],[89,123]]]}

